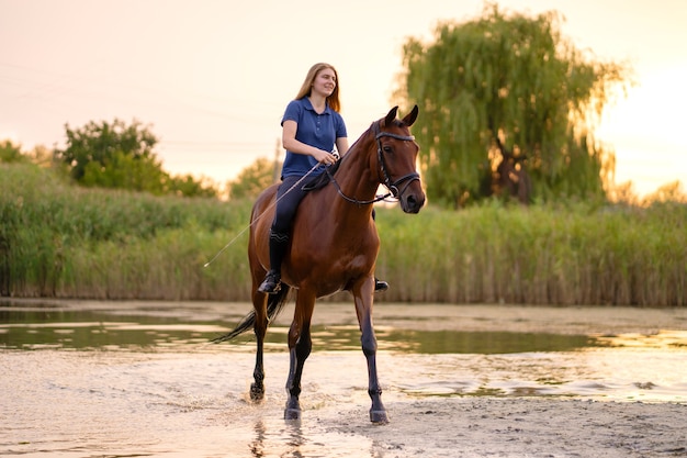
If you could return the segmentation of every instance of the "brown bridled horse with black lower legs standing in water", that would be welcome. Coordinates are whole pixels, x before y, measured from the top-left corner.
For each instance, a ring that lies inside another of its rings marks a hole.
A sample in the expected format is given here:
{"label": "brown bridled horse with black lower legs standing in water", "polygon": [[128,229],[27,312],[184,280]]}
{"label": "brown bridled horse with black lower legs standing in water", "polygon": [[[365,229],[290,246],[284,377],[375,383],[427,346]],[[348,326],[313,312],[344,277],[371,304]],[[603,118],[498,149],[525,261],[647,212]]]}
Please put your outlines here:
{"label": "brown bridled horse with black lower legs standing in water", "polygon": [[[297,291],[293,322],[289,331],[290,370],[286,381],[286,420],[301,417],[299,396],[303,365],[312,349],[311,319],[315,300],[337,291],[353,294],[361,331],[362,350],[368,362],[368,392],[372,399],[370,420],[386,423],[382,390],[376,375],[376,337],[372,327],[374,265],[380,238],[372,220],[373,203],[393,196],[406,213],[418,213],[425,203],[416,158],[419,150],[408,127],[417,119],[415,107],[403,120],[396,119],[398,107],[370,129],[326,174],[316,190],[308,192],[294,217],[291,247],[282,264],[282,288],[267,295],[258,287],[269,266],[269,233],[274,215],[277,185],[256,201],[250,225],[248,257],[252,273],[254,311],[229,334],[214,342],[232,339],[255,329],[257,338],[254,400],[264,395],[262,366],[263,340],[270,321],[281,311],[291,288]],[[375,198],[379,186],[390,193]]]}

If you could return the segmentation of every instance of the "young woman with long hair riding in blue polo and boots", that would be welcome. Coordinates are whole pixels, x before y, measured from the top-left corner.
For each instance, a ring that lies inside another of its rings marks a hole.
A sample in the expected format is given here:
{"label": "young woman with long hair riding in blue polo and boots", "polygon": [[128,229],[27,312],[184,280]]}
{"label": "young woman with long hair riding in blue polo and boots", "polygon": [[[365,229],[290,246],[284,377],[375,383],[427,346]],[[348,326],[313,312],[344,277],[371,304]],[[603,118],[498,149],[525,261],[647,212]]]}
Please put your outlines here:
{"label": "young woman with long hair riding in blue polo and boots", "polygon": [[[289,247],[293,216],[305,196],[305,191],[294,183],[308,172],[316,177],[325,166],[336,163],[335,146],[340,156],[348,152],[346,123],[339,113],[338,82],[339,76],[331,65],[315,64],[305,76],[295,100],[286,105],[281,122],[286,158],[270,228],[270,270],[258,288],[261,292],[274,294],[281,288],[281,264]],[[387,288],[384,281],[375,282],[376,291]]]}

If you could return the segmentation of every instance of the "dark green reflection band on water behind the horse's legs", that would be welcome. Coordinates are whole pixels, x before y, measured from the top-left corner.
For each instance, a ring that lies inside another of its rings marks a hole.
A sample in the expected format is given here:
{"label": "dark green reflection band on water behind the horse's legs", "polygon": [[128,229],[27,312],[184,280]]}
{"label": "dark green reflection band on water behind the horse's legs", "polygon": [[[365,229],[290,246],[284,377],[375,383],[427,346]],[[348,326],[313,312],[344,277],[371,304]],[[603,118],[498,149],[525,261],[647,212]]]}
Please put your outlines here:
{"label": "dark green reflection band on water behind the horse's legs", "polygon": [[[155,308],[142,310],[65,310],[54,306],[0,308],[0,345],[13,349],[162,350],[200,347],[229,329],[234,321],[189,320]],[[288,327],[272,326],[266,349],[285,347]],[[413,331],[376,326],[382,350],[415,354],[510,354],[568,351],[612,345],[610,337],[544,333]],[[250,343],[250,334],[237,345]],[[359,350],[357,325],[313,326],[313,350]]]}

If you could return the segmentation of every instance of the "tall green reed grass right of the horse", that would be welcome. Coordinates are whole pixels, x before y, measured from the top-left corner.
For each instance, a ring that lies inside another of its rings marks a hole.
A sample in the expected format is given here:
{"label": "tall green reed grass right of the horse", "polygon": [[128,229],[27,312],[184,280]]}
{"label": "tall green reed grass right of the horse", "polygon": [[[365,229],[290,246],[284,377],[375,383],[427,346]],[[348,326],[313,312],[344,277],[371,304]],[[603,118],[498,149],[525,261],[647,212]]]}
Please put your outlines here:
{"label": "tall green reed grass right of the horse", "polygon": [[[412,302],[687,304],[687,206],[378,212],[378,273]],[[393,292],[392,292],[393,291]]]}

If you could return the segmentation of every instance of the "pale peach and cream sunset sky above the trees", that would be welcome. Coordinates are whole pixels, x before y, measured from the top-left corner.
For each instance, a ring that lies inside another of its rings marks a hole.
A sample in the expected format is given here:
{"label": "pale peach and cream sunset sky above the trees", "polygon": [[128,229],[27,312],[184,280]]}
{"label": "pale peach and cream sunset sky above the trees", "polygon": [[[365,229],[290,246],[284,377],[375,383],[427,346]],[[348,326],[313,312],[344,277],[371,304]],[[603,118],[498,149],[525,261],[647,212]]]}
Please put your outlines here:
{"label": "pale peach and cream sunset sky above the trees", "polygon": [[[316,62],[338,72],[350,143],[391,99],[408,36],[481,14],[477,0],[0,0],[0,141],[64,146],[65,124],[127,124],[160,139],[165,170],[234,179],[273,158],[280,120]],[[687,188],[687,3],[503,0],[565,16],[563,34],[599,60],[629,62],[639,86],[597,136],[618,183]],[[420,113],[421,116],[421,113]],[[281,149],[281,148],[280,148]]]}

